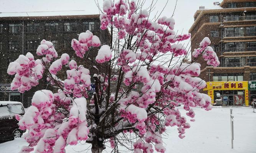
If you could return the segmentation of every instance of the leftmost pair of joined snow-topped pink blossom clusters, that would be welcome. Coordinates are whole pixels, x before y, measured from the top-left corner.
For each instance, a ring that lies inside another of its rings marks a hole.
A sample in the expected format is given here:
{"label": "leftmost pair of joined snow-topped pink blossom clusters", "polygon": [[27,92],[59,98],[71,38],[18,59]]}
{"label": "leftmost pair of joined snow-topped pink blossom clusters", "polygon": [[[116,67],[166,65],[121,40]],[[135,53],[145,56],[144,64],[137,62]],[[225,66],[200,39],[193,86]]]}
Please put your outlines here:
{"label": "leftmost pair of joined snow-topped pink blossom clusters", "polygon": [[11,62],[8,66],[7,73],[15,75],[11,90],[18,89],[19,92],[30,90],[32,86],[38,85],[38,81],[43,77],[45,66],[43,63],[49,63],[53,57],[58,57],[58,54],[50,41],[42,40],[41,44],[36,49],[37,55],[45,55],[42,60],[34,60],[34,56],[28,52],[26,56],[20,55],[15,62]]}

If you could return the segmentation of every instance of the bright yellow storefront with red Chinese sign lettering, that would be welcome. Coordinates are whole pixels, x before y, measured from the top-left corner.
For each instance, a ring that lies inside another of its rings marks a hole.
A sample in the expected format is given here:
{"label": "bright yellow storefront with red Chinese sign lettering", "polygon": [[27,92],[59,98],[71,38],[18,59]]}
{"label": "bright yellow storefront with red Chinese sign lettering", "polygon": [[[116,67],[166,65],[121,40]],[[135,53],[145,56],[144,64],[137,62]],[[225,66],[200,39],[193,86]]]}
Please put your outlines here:
{"label": "bright yellow storefront with red Chinese sign lettering", "polygon": [[206,82],[203,91],[207,91],[212,104],[226,106],[248,106],[248,81]]}

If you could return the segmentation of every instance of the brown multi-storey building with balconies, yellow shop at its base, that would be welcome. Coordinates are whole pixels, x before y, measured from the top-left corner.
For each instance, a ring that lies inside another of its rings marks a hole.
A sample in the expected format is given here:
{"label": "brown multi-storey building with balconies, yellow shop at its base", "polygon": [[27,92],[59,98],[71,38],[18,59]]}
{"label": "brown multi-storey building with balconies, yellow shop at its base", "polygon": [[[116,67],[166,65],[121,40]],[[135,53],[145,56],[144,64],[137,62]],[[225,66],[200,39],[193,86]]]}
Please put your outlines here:
{"label": "brown multi-storey building with balconies, yellow shop at its base", "polygon": [[[210,67],[202,56],[200,77],[207,81],[205,92],[226,105],[249,105],[256,99],[256,1],[223,0],[213,8],[195,12],[191,33],[192,49],[209,37],[220,65]],[[249,82],[248,82],[249,81]]]}

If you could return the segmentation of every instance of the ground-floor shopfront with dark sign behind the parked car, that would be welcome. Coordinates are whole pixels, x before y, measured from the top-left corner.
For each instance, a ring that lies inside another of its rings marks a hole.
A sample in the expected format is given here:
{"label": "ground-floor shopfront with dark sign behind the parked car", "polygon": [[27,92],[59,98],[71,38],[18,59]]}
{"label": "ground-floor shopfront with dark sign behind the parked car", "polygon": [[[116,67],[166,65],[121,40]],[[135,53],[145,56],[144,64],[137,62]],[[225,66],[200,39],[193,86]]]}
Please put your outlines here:
{"label": "ground-floor shopfront with dark sign behind the parked car", "polygon": [[0,101],[22,102],[22,95],[18,90],[12,91],[10,84],[0,84]]}

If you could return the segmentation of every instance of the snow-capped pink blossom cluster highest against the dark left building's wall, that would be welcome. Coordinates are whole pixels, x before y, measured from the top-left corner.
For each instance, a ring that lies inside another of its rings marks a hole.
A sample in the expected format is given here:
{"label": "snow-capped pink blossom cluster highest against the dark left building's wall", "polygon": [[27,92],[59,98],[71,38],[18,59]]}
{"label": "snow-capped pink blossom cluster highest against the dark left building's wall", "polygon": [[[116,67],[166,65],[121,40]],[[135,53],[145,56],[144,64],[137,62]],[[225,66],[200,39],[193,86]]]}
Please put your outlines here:
{"label": "snow-capped pink blossom cluster highest against the dark left building's wall", "polygon": [[79,34],[78,40],[72,39],[71,46],[76,51],[78,57],[84,58],[84,54],[89,50],[89,47],[99,47],[101,46],[101,41],[99,37],[87,30],[85,33]]}

